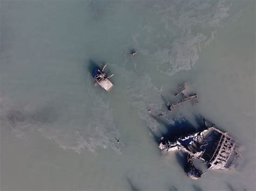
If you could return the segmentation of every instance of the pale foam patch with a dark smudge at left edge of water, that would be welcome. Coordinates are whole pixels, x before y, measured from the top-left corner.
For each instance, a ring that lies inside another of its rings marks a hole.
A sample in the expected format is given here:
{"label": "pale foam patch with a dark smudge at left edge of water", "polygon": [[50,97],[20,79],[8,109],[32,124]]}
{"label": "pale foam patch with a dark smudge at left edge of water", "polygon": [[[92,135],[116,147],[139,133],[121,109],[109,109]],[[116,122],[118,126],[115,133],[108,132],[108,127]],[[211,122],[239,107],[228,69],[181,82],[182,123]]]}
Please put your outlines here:
{"label": "pale foam patch with a dark smudge at left edge of water", "polygon": [[[2,98],[0,118],[17,137],[25,138],[30,130],[38,130],[45,138],[54,140],[60,147],[78,153],[84,148],[96,153],[96,147],[100,146],[112,148],[120,154],[115,140],[120,135],[113,123],[109,104],[95,92],[87,98],[91,99],[91,104],[86,104],[90,112],[85,112],[85,116],[79,114],[80,111],[76,107],[66,104],[64,109],[68,111],[68,118],[64,112],[59,112],[63,107],[55,104],[55,109],[59,111],[58,117],[54,119],[51,118],[56,114],[50,105],[41,106],[38,110],[30,108],[29,104],[14,103],[8,98]],[[76,121],[80,123],[77,124]]]}

